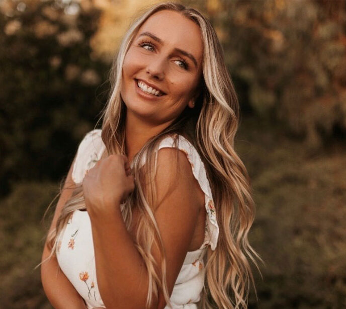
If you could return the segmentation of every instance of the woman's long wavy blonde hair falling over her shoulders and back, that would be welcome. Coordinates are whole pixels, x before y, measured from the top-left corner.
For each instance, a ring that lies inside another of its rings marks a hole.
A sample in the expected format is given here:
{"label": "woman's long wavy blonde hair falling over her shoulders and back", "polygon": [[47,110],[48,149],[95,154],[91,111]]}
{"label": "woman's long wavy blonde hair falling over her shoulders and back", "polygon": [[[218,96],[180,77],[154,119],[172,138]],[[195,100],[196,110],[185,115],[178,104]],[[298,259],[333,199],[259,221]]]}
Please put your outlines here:
{"label": "woman's long wavy blonde hair falling over her shoulders and back", "polygon": [[[149,139],[131,163],[135,190],[124,203],[122,216],[129,229],[132,207],[137,207],[141,214],[135,246],[149,273],[147,305],[151,304],[153,295],[158,296],[159,289],[162,289],[165,301],[170,305],[166,285],[166,258],[153,214],[157,203],[156,188],[152,182],[156,171],[155,148],[167,135],[181,134],[196,147],[204,162],[219,224],[218,245],[214,251],[210,246],[207,249],[206,276],[200,306],[203,309],[212,307],[208,300],[210,293],[219,308],[246,308],[250,279],[254,286],[248,258],[257,269],[255,258],[262,261],[247,239],[254,220],[255,206],[246,168],[234,151],[234,136],[240,117],[237,96],[217,35],[201,13],[177,3],[160,3],[146,9],[132,24],[113,61],[110,73],[111,92],[100,118],[103,119],[102,140],[109,154],[125,154],[126,106],[120,96],[123,62],[141,25],[152,14],[161,10],[179,12],[200,27],[204,47],[203,76],[195,108],[186,108],[173,123]],[[141,167],[143,158],[145,165]],[[150,186],[144,185],[148,183]],[[47,236],[47,245],[51,250],[47,259],[56,255],[58,239],[70,215],[77,209],[85,209],[81,183],[76,184],[72,196],[61,211],[56,227]],[[160,267],[150,253],[153,244],[158,246],[161,253]]]}

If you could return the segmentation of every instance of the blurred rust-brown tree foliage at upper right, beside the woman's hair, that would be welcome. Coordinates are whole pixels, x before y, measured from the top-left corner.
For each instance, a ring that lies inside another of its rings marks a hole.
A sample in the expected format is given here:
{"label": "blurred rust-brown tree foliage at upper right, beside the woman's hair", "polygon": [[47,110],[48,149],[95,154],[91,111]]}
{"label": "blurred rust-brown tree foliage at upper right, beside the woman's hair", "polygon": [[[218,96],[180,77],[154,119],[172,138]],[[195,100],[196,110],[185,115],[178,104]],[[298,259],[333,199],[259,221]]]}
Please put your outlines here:
{"label": "blurred rust-brown tree foliage at upper right, beside the woman's hair", "polygon": [[243,111],[284,122],[311,149],[346,136],[345,1],[186,3],[216,28]]}

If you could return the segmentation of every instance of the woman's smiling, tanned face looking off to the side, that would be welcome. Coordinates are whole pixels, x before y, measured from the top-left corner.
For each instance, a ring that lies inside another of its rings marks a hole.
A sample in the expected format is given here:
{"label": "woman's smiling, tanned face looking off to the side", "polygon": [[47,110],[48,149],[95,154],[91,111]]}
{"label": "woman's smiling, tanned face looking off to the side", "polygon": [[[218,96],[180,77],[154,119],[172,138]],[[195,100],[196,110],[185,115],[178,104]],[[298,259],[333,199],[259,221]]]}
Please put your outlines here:
{"label": "woman's smiling, tanned face looking off to the side", "polygon": [[167,10],[150,16],[124,59],[121,96],[127,117],[168,125],[187,106],[194,108],[202,54],[200,28],[192,20]]}

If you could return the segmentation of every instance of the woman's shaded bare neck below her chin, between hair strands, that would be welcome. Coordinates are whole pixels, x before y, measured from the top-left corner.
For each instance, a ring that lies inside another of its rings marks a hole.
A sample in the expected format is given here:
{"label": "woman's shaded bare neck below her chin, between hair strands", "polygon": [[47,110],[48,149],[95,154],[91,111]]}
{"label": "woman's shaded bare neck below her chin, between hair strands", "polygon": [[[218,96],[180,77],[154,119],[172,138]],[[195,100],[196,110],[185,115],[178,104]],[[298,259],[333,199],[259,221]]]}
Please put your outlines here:
{"label": "woman's shaded bare neck below her chin, between hair strands", "polygon": [[132,162],[136,153],[151,137],[160,133],[169,124],[170,122],[153,125],[127,111],[125,121],[125,149],[129,163]]}

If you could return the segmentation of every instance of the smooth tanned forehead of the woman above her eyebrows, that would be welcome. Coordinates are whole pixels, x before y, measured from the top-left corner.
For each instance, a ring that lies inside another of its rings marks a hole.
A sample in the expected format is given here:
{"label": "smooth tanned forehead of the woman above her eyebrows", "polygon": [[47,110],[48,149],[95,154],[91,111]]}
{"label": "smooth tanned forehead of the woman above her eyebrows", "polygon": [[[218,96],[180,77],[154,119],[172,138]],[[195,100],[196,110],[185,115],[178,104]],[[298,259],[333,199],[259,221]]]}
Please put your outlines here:
{"label": "smooth tanned forehead of the woman above her eyebrows", "polygon": [[200,27],[181,13],[168,10],[156,12],[139,28],[137,37],[145,31],[160,38],[164,46],[186,50],[198,62],[201,61],[203,43]]}

